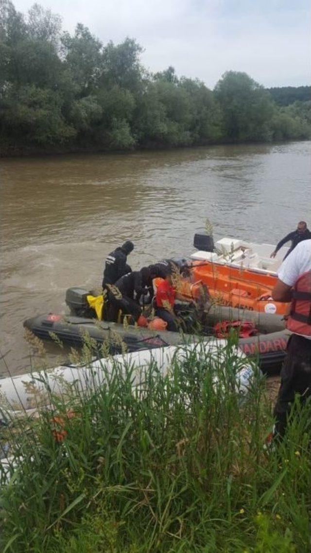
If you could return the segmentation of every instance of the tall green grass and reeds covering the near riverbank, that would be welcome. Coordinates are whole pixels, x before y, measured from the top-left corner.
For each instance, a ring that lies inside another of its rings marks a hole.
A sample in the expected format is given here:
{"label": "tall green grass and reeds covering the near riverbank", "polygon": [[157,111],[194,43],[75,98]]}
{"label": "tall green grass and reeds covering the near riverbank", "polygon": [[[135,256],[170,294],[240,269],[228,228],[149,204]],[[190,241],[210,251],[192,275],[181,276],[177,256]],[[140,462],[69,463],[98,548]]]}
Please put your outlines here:
{"label": "tall green grass and reeds covering the near riverbank", "polygon": [[1,551],[310,551],[311,405],[297,402],[265,450],[265,380],[254,367],[241,397],[239,363],[230,343],[216,363],[188,353],[167,375],[115,363],[96,392],[74,386],[50,398],[53,413],[15,421],[7,439],[24,461],[2,487]]}

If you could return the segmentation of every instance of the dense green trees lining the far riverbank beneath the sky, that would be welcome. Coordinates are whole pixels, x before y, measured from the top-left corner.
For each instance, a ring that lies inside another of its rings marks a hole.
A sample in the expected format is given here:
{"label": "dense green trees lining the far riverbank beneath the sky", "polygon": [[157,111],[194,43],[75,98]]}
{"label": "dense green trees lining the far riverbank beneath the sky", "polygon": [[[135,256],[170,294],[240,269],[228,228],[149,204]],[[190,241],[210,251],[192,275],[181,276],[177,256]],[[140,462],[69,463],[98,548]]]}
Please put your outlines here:
{"label": "dense green trees lining the far riverbank beneath the sky", "polygon": [[[147,74],[134,39],[103,45],[81,23],[0,0],[0,132],[5,147],[133,149],[309,138],[310,87],[265,90],[226,72],[214,91],[169,66]],[[294,100],[293,100],[294,98]],[[279,104],[279,105],[278,105]]]}

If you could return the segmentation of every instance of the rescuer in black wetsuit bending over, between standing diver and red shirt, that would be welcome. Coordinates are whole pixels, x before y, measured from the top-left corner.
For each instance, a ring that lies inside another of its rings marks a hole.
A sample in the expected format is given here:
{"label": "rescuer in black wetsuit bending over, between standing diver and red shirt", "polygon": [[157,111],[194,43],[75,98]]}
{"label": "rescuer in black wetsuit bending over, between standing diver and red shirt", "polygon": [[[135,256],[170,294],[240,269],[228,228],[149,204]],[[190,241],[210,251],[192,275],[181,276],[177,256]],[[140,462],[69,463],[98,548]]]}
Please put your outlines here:
{"label": "rescuer in black wetsuit bending over, between standing diver and red shirt", "polygon": [[121,276],[108,291],[108,320],[116,322],[121,310],[122,314],[132,315],[133,321],[136,322],[142,315],[139,298],[148,294],[150,286],[152,274],[148,267]]}

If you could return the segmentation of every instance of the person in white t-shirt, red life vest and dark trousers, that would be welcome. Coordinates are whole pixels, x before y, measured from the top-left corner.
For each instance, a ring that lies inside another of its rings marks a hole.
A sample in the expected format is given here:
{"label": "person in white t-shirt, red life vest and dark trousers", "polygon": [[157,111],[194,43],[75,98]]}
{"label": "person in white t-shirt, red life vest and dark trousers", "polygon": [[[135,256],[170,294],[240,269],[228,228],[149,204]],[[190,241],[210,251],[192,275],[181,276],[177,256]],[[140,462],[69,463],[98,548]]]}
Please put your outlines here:
{"label": "person in white t-shirt, red life vest and dark trousers", "polygon": [[274,407],[276,434],[283,436],[296,394],[311,395],[311,239],[297,244],[282,263],[272,290],[276,301],[291,301],[286,327],[291,330]]}

